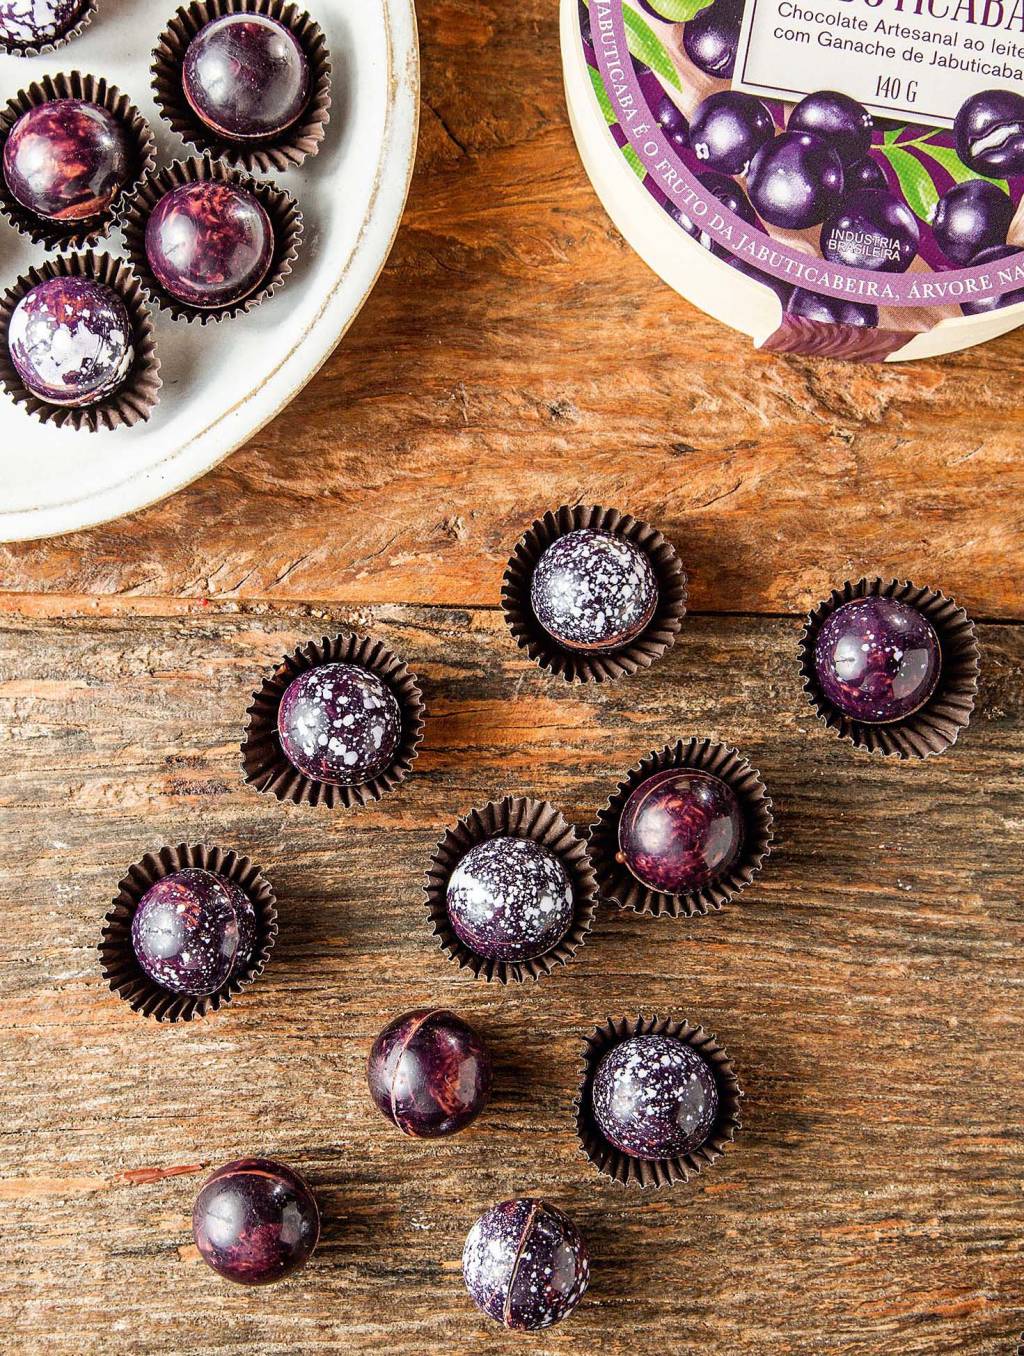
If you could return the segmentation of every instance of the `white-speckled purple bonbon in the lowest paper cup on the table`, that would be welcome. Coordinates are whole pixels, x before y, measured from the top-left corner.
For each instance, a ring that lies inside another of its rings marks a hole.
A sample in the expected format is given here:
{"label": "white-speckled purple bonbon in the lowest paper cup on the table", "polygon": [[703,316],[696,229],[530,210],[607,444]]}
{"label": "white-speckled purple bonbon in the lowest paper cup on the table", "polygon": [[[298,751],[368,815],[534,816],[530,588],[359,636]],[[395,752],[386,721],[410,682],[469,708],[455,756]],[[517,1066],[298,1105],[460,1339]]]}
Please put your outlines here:
{"label": "white-speckled purple bonbon in the lowest paper cup on the table", "polygon": [[590,1096],[605,1139],[647,1162],[700,1149],[719,1111],[708,1063],[674,1036],[631,1036],[613,1045],[597,1066]]}

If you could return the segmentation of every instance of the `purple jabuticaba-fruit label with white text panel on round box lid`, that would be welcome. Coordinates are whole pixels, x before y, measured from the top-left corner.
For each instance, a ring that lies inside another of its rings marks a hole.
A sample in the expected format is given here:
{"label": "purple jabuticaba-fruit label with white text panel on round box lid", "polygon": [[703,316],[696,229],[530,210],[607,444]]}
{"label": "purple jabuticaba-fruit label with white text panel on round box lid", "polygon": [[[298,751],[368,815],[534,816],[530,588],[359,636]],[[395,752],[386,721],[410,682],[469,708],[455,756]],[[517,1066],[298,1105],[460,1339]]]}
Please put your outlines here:
{"label": "purple jabuticaba-fruit label with white text panel on round box lid", "polygon": [[627,163],[792,327],[906,335],[1024,301],[1024,0],[579,8]]}

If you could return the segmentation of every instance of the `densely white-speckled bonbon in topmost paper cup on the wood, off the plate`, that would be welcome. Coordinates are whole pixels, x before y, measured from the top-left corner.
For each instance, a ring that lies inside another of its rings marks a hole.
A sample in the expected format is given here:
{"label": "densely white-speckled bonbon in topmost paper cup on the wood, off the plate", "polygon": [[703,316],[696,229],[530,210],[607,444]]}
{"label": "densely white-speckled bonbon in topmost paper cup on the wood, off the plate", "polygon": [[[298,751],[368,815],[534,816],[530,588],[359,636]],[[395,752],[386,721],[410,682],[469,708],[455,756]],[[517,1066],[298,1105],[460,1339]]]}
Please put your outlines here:
{"label": "densely white-speckled bonbon in topmost paper cup on the wood, off the plate", "polygon": [[618,650],[658,607],[646,552],[608,532],[582,527],[553,541],[530,582],[533,614],[566,650]]}

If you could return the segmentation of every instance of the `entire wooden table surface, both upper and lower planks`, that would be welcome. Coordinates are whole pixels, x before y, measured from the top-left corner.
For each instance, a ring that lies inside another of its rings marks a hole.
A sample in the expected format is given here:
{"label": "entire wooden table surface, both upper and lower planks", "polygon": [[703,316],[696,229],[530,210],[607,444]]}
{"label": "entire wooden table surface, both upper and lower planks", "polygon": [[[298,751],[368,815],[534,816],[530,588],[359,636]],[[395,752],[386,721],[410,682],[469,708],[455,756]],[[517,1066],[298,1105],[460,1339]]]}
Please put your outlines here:
{"label": "entire wooden table surface, both upper and lower planks", "polygon": [[[0,548],[0,1349],[461,1356],[1010,1356],[1024,1329],[1024,340],[886,369],[761,357],[656,285],[599,209],[560,89],[553,0],[422,0],[419,168],[373,298],[244,450],[140,515]],[[650,674],[571,689],[496,610],[519,532],[563,502],[656,522],[692,613]],[[822,730],[799,617],[910,576],[979,622],[975,720],[940,759]],[[259,674],[370,629],[422,675],[416,776],[355,814],[247,791]],[[719,915],[605,907],[567,970],[458,972],[420,877],[457,814],[553,800],[585,824],[678,735],[736,743],[779,843]],[[163,1028],[103,986],[129,861],[251,853],[282,933],[260,983]],[[479,1024],[496,1094],[407,1142],[362,1066],[425,1003]],[[712,1172],[642,1196],[578,1154],[593,1024],[705,1022],[747,1090]],[[205,1173],[297,1166],[324,1238],[269,1291],[220,1281]],[[465,1231],[543,1193],[591,1243],[560,1329],[506,1336],[464,1294]]]}

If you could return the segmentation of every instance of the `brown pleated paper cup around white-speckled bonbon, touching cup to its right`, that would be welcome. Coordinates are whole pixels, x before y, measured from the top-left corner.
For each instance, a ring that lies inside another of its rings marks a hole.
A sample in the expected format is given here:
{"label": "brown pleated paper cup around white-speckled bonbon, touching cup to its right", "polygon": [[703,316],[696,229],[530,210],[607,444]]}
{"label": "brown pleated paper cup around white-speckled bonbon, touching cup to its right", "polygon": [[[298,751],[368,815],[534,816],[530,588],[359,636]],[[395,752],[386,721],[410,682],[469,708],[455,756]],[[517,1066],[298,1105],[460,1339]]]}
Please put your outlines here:
{"label": "brown pleated paper cup around white-speckled bonbon, touching cup to its right", "polygon": [[[448,883],[471,848],[488,838],[529,838],[547,848],[572,883],[572,925],[562,941],[543,956],[513,961],[477,956],[458,938],[448,917]],[[427,917],[441,949],[461,970],[471,970],[477,979],[499,984],[522,984],[540,979],[560,965],[567,965],[586,942],[597,917],[597,881],[590,865],[586,842],[564,815],[545,800],[506,796],[471,810],[453,824],[434,850],[425,891]]]}

